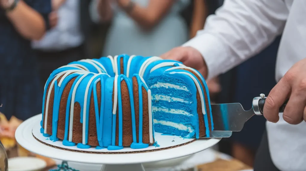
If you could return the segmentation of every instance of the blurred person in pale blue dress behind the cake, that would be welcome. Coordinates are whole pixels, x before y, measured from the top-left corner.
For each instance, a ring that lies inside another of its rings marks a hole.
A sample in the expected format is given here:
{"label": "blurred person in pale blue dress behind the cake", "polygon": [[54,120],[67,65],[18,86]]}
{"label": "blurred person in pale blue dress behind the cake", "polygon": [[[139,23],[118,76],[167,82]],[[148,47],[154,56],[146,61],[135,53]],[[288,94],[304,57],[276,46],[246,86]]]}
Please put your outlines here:
{"label": "blurred person in pale blue dress behind the cake", "polygon": [[103,22],[111,21],[103,56],[158,56],[188,40],[179,14],[189,0],[99,0]]}

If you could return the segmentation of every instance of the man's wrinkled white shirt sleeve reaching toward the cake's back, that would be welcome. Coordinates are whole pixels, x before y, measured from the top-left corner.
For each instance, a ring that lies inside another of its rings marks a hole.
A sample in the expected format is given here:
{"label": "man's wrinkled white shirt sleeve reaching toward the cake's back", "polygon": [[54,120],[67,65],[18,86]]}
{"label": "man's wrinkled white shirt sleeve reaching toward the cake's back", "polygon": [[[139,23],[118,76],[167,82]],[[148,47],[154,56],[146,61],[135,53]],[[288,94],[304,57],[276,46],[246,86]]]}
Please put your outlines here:
{"label": "man's wrinkled white shirt sleeve reaching toward the cake's back", "polygon": [[183,46],[202,54],[212,78],[267,47],[282,33],[288,14],[283,0],[226,0]]}

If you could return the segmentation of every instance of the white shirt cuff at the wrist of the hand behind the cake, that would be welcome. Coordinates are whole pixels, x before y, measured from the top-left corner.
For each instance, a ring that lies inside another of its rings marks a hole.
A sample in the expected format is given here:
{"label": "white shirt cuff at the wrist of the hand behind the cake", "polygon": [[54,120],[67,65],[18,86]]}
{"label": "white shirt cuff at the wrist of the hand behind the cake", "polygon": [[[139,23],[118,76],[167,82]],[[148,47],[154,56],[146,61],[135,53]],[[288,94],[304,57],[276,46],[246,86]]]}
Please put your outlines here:
{"label": "white shirt cuff at the wrist of the hand behind the cake", "polygon": [[225,73],[233,67],[233,59],[229,59],[228,48],[214,35],[207,33],[197,35],[182,46],[195,48],[202,54],[208,69],[207,79]]}

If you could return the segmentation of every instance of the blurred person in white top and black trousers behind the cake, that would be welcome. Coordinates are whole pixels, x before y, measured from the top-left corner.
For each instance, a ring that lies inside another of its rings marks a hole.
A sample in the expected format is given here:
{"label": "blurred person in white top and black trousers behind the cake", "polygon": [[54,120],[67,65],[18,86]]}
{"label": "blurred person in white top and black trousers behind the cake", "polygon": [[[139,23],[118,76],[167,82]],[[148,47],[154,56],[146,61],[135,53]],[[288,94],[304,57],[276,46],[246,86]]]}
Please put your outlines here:
{"label": "blurred person in white top and black trousers behind the cake", "polygon": [[51,0],[51,3],[49,21],[53,28],[42,40],[32,41],[39,61],[42,89],[58,67],[91,58],[88,52],[90,0]]}

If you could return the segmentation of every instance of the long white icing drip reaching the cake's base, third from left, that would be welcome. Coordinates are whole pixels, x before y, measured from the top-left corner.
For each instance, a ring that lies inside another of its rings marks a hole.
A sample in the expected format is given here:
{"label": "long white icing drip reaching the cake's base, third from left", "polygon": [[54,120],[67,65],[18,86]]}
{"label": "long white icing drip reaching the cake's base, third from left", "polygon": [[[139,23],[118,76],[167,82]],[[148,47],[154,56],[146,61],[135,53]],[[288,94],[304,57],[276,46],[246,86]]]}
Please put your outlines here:
{"label": "long white icing drip reaching the cake's base, third from left", "polygon": [[[94,76],[92,76],[90,78],[90,80],[88,81],[88,84],[86,86],[86,89],[85,89],[85,95],[84,95],[84,105],[83,105],[83,134],[82,134],[82,143],[85,145],[85,133],[86,133],[86,110],[87,110],[87,97],[88,97],[88,93],[89,92],[89,87],[90,87],[90,84],[92,82],[92,80],[94,80],[96,77],[100,76],[100,75],[108,75],[106,73],[99,73],[99,74],[95,74]],[[100,78],[98,78],[98,80],[100,80]]]}

